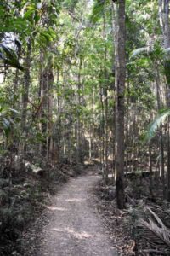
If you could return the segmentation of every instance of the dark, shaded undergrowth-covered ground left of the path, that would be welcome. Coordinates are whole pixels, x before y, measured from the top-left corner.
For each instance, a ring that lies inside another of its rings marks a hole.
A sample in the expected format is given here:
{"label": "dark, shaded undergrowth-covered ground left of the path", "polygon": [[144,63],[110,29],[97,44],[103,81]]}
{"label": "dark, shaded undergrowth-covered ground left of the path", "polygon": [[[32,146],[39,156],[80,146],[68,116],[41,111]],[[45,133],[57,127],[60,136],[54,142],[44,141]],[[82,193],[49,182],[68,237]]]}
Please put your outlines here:
{"label": "dark, shaded undergrowth-covered ground left of the path", "polygon": [[[34,160],[33,163],[37,161]],[[22,250],[20,252],[20,247],[25,247],[26,243],[23,240],[23,233],[26,235],[26,230],[31,225],[32,230],[37,228],[38,219],[41,219],[40,216],[47,206],[50,206],[53,195],[56,195],[71,177],[84,173],[88,166],[80,166],[73,162],[48,166],[42,162],[41,167],[43,172],[33,173],[31,169],[23,166],[16,169],[13,164],[9,182],[8,166],[1,166],[0,256],[25,255]],[[30,241],[34,240],[34,236],[29,238]],[[28,247],[26,249],[30,250]]]}

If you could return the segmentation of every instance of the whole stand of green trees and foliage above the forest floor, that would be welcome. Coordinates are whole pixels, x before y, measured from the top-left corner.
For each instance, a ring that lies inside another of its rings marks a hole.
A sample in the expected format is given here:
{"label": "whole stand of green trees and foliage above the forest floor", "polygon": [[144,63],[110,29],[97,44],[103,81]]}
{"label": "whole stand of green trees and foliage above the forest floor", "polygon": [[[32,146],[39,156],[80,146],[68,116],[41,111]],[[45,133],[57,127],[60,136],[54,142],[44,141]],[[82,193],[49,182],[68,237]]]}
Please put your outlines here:
{"label": "whole stand of green trees and foliage above the forest floor", "polygon": [[93,161],[119,208],[124,176],[170,201],[169,1],[6,0],[0,24],[0,207],[26,166]]}

